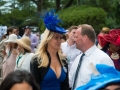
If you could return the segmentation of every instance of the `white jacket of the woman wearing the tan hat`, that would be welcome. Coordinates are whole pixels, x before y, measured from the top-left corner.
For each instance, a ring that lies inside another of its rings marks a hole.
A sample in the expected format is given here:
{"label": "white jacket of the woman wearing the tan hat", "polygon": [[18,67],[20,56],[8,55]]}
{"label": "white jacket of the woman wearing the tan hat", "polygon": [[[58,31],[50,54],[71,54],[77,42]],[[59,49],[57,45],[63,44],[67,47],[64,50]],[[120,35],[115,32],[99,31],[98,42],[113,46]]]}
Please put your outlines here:
{"label": "white jacket of the woman wearing the tan hat", "polygon": [[26,53],[25,55],[22,56],[22,58],[20,58],[19,62],[17,57],[14,70],[26,70],[30,72],[30,61],[33,56],[34,56],[34,53]]}

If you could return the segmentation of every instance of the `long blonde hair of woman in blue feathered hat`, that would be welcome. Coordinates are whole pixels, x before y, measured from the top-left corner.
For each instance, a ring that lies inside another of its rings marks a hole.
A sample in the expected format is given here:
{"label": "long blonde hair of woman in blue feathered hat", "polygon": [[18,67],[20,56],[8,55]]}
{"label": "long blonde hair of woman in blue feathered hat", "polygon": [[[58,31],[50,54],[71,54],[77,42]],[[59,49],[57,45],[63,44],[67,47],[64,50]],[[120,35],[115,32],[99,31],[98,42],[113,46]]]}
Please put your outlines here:
{"label": "long blonde hair of woman in blue feathered hat", "polygon": [[[44,35],[43,35],[42,40],[39,44],[39,48],[36,52],[36,54],[38,56],[38,63],[39,63],[38,68],[47,67],[48,64],[49,64],[49,58],[48,58],[47,52],[46,52],[47,51],[47,45],[48,45],[48,42],[53,38],[55,33],[46,29],[43,34]],[[65,59],[65,55],[63,55],[61,49],[58,50],[58,55],[59,55],[59,58],[60,58],[60,62],[63,66],[64,64],[63,64],[62,60],[66,60],[66,59]]]}

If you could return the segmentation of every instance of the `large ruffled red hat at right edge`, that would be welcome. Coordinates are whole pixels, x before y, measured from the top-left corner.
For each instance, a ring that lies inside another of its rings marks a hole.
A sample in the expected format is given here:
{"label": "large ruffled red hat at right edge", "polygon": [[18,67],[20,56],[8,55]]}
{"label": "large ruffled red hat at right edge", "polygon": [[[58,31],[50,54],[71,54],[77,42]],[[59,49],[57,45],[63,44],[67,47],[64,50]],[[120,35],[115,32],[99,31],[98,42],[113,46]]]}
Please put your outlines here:
{"label": "large ruffled red hat at right edge", "polygon": [[114,29],[109,32],[109,34],[98,36],[101,42],[99,44],[104,47],[108,42],[116,46],[120,46],[120,29]]}

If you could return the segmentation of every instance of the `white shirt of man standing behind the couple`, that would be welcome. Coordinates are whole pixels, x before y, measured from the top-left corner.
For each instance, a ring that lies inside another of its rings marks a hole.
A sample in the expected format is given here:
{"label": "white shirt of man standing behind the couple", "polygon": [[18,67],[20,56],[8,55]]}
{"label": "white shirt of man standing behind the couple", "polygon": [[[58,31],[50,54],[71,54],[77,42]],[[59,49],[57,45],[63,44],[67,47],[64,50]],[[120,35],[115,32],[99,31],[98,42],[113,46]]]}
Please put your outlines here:
{"label": "white shirt of man standing behind the couple", "polygon": [[74,62],[75,58],[81,53],[81,51],[76,48],[75,44],[70,46],[67,41],[61,44],[61,48],[63,53],[67,56],[68,70],[70,70],[72,63]]}

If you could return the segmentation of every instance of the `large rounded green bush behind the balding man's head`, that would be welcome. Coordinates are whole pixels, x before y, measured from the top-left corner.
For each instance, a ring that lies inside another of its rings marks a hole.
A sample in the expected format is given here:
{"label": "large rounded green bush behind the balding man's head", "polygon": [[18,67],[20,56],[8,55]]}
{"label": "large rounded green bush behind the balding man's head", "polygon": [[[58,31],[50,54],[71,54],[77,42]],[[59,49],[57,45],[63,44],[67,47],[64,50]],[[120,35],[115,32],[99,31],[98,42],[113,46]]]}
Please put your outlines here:
{"label": "large rounded green bush behind the balding man's head", "polygon": [[105,25],[107,13],[102,8],[91,6],[73,6],[59,12],[63,20],[62,26],[65,28],[71,25],[87,23],[92,25],[95,30],[99,30]]}

